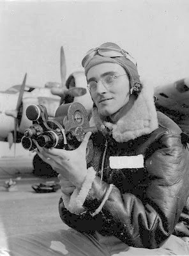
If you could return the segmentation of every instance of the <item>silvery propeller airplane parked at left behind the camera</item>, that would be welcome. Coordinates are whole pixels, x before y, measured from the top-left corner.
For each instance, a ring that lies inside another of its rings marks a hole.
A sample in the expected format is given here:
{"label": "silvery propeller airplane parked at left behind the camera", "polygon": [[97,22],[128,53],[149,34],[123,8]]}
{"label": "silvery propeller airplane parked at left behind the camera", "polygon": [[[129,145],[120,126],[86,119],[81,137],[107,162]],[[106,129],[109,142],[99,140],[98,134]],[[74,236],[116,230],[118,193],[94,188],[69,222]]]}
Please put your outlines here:
{"label": "silvery propeller airplane parked at left behind the camera", "polygon": [[[60,63],[61,83],[47,82],[45,87],[31,86],[26,84],[27,74],[25,74],[22,84],[11,86],[8,90],[0,92],[0,161],[4,157],[9,157],[10,160],[14,157],[16,160],[20,157],[20,154],[31,158],[31,152],[23,154],[22,149],[24,148],[20,147],[20,140],[25,129],[32,125],[32,122],[26,116],[26,109],[29,105],[44,105],[50,117],[54,117],[60,104],[75,101],[82,103],[88,113],[91,111],[93,101],[88,90],[86,90],[87,82],[84,72],[73,72],[66,79],[66,61],[63,47],[61,47]],[[4,141],[8,141],[9,149]],[[13,144],[14,150],[11,150]],[[6,160],[8,159],[6,158]],[[43,169],[50,169],[50,166],[39,159],[38,155],[33,157],[33,166],[36,173],[42,172]],[[52,172],[52,170],[49,172]]]}

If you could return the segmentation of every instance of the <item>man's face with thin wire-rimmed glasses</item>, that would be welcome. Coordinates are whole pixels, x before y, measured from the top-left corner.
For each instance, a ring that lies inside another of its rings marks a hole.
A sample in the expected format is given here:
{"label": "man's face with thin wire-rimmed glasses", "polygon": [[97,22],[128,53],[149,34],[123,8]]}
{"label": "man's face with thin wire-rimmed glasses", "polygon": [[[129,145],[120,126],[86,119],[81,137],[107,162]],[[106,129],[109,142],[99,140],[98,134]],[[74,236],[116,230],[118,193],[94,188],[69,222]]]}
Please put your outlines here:
{"label": "man's face with thin wire-rimmed glasses", "polygon": [[[104,86],[101,81],[107,74],[118,76],[110,87]],[[126,74],[125,69],[117,63],[101,63],[87,72],[87,83],[98,82],[96,90],[91,92],[91,97],[101,115],[111,116],[128,102],[130,81],[127,75],[121,76],[123,74]]]}

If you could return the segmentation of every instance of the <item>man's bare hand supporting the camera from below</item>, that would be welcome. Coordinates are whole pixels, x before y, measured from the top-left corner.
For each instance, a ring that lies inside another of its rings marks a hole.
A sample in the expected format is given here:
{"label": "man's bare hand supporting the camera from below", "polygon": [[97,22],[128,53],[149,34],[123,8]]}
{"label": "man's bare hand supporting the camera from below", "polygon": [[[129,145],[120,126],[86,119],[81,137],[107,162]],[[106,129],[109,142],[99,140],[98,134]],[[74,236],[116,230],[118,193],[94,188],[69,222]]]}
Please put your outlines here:
{"label": "man's bare hand supporting the camera from below", "polygon": [[86,148],[91,132],[87,132],[80,146],[75,150],[38,147],[38,155],[50,164],[64,179],[69,180],[76,188],[81,188],[87,175]]}

